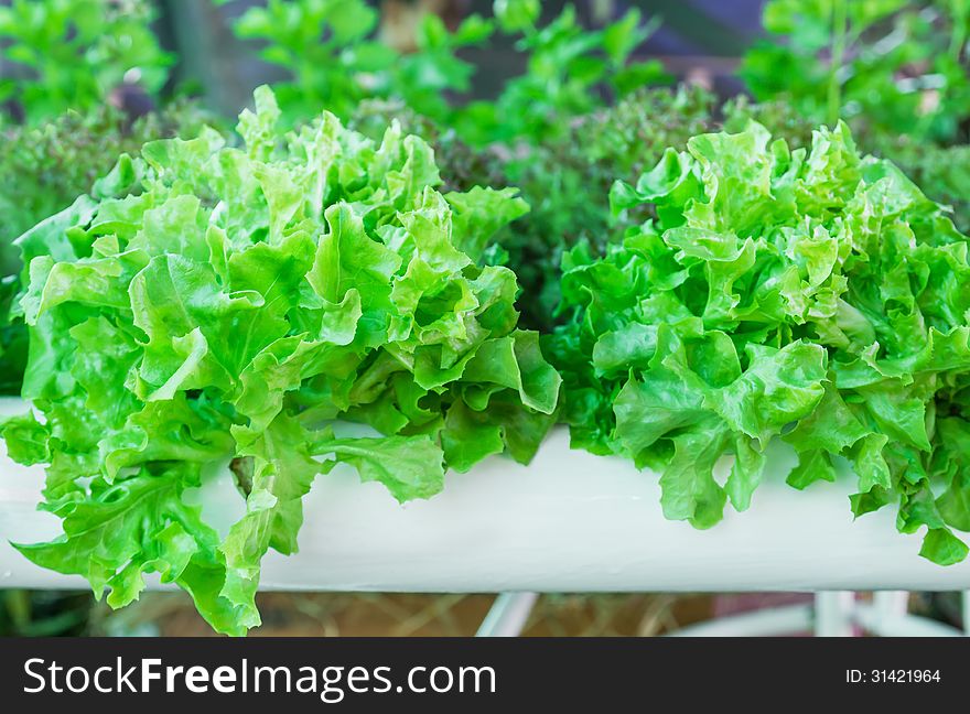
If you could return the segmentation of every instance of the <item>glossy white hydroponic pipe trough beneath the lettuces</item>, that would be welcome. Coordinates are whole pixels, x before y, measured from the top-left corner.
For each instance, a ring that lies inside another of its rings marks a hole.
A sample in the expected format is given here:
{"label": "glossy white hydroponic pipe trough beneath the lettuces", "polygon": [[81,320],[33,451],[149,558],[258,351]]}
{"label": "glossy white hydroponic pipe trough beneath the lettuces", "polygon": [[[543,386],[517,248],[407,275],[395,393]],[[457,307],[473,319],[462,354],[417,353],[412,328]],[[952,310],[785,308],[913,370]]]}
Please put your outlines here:
{"label": "glossy white hydroponic pipe trough beneath the lettuces", "polygon": [[[0,413],[23,409],[0,402]],[[300,553],[265,560],[261,587],[384,592],[691,592],[968,589],[970,561],[941,567],[917,554],[886,508],[853,522],[851,478],[805,491],[777,473],[744,513],[708,531],[660,511],[658,476],[619,458],[571,451],[557,430],[528,467],[491,458],[451,473],[444,493],[399,506],[378,484],[338,467],[305,499]],[[770,472],[772,469],[769,469]],[[0,445],[0,587],[84,586],[36,567],[9,540],[60,532],[35,505],[41,468]],[[197,494],[227,526],[241,513],[228,475]]]}

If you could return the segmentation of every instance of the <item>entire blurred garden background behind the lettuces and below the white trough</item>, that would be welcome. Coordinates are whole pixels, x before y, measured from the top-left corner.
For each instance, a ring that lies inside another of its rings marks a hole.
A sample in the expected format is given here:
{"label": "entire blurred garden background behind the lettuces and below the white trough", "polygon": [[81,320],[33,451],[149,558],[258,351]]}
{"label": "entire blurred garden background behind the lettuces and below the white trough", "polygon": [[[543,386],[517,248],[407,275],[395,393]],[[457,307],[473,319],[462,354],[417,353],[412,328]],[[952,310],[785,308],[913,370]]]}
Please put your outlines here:
{"label": "entire blurred garden background behind the lettuces and below the white trough", "polygon": [[[486,260],[522,322],[557,321],[563,251],[668,147],[755,119],[793,145],[843,119],[970,228],[970,0],[0,0],[0,393],[25,357],[13,240],[149,140],[231,134],[271,83],[297,127],[326,108],[435,149],[446,188],[517,186],[531,213]],[[467,635],[486,596],[266,595],[266,634]],[[949,596],[917,599],[952,620]],[[648,635],[770,598],[547,596],[527,634]],[[201,634],[181,596],[108,616],[89,595],[7,592],[0,634]]]}

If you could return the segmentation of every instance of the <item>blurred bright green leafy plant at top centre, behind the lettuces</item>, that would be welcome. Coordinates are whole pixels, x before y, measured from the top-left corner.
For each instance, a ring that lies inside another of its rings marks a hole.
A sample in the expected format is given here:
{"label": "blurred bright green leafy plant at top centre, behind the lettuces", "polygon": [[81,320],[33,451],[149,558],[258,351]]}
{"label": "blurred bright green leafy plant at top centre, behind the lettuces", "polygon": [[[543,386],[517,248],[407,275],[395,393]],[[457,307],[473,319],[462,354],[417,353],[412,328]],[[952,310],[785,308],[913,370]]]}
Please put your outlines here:
{"label": "blurred bright green leafy plant at top centre, behind the lettuces", "polygon": [[[438,15],[427,13],[410,53],[380,40],[378,12],[363,0],[269,0],[247,10],[233,30],[261,41],[260,56],[292,75],[277,91],[293,123],[320,108],[347,120],[360,101],[400,100],[475,147],[540,143],[571,118],[603,106],[604,95],[670,82],[657,61],[629,62],[656,26],[643,23],[638,10],[595,31],[580,24],[572,6],[545,26],[536,24],[535,2],[497,2],[495,15],[471,15],[449,32]],[[486,43],[496,21],[506,33],[520,35],[517,47],[528,56],[527,72],[509,80],[496,100],[460,106],[474,66],[457,53]]]}

